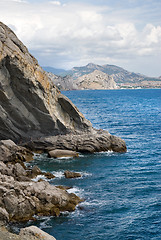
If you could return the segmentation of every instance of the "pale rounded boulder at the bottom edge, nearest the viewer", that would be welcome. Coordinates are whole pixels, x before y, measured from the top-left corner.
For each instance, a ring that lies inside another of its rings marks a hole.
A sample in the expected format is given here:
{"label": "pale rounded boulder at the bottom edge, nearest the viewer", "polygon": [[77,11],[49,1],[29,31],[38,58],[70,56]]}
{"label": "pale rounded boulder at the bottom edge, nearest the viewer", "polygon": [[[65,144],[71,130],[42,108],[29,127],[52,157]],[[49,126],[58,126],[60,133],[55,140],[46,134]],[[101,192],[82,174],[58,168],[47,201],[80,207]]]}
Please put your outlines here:
{"label": "pale rounded boulder at the bottom edge, nearest the viewer", "polygon": [[42,231],[36,226],[30,226],[26,228],[22,228],[19,236],[21,240],[56,240],[54,237],[49,235],[48,233]]}

